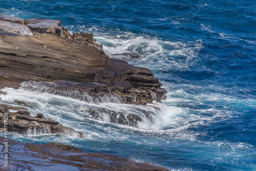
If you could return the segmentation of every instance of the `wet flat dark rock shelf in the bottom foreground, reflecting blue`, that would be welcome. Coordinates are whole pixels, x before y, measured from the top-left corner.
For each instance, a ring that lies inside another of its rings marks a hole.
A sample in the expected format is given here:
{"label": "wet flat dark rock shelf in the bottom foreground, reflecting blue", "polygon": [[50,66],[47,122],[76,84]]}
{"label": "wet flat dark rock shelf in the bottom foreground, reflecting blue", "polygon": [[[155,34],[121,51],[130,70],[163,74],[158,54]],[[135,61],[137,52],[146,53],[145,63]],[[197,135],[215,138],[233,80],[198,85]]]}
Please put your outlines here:
{"label": "wet flat dark rock shelf in the bottom foreground, reflecting blue", "polygon": [[[0,145],[5,148],[4,137]],[[31,144],[9,139],[8,168],[4,170],[169,170],[149,162],[136,162],[117,155],[81,152],[81,149],[60,144]]]}

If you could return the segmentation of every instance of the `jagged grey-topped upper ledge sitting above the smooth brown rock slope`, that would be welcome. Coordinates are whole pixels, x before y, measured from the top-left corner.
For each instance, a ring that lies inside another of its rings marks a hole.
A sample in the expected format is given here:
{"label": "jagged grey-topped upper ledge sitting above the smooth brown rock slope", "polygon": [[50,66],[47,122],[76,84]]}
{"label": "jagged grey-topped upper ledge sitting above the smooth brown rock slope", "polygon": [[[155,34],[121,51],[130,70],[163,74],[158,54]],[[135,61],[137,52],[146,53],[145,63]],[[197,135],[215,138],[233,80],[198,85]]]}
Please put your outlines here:
{"label": "jagged grey-topped upper ledge sitting above the smooth brown rock slope", "polygon": [[97,44],[92,33],[74,33],[73,35],[61,26],[62,21],[56,19],[32,18],[26,19],[0,14],[0,35],[58,35],[73,39],[82,45],[94,46],[102,49]]}

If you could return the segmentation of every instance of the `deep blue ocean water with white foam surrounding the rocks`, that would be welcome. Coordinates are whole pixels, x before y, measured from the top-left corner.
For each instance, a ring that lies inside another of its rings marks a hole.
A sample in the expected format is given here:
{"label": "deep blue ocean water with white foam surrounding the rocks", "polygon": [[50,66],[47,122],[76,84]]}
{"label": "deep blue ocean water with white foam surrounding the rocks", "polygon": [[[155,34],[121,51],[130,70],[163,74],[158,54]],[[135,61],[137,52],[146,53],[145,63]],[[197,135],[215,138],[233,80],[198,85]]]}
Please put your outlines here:
{"label": "deep blue ocean water with white foam surrounding the rocks", "polygon": [[[6,88],[0,102],[26,101],[34,115],[86,135],[13,139],[62,142],[177,170],[256,170],[254,1],[1,0],[0,13],[60,19],[71,33],[93,33],[106,54],[151,69],[168,91],[163,103],[135,106]],[[93,119],[88,109],[106,112]],[[154,116],[131,127],[110,123],[110,111]]]}

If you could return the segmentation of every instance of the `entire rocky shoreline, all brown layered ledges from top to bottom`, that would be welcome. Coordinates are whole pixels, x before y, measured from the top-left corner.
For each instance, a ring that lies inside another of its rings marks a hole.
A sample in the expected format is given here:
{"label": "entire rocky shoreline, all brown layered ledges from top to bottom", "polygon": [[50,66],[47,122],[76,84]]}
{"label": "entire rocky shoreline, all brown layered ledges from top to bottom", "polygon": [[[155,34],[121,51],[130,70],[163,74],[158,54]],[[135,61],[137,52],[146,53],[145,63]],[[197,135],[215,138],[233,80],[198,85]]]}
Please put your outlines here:
{"label": "entire rocky shoreline, all brown layered ledges from top to bottom", "polygon": [[[24,20],[0,14],[0,89],[47,92],[93,103],[146,105],[165,98],[166,90],[161,86],[150,70],[105,55],[93,34],[71,35],[60,20]],[[5,92],[0,91],[0,94]],[[9,132],[83,137],[83,133],[45,118],[43,114],[31,116],[25,108],[30,106],[25,102],[16,100],[15,103],[17,106],[0,103],[0,130],[3,130],[4,115],[8,113]],[[135,120],[137,122],[138,118]],[[3,137],[0,139],[3,146]],[[54,165],[58,168],[69,165],[77,170],[167,170],[119,156],[81,152],[64,144],[34,145],[13,140],[9,143],[12,145],[10,170],[43,168],[44,164],[35,162],[42,159],[52,163],[48,169]],[[21,148],[25,151],[21,152]],[[20,160],[17,156],[24,152],[34,161]]]}

